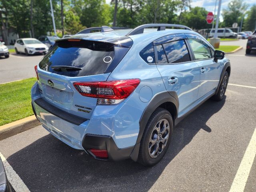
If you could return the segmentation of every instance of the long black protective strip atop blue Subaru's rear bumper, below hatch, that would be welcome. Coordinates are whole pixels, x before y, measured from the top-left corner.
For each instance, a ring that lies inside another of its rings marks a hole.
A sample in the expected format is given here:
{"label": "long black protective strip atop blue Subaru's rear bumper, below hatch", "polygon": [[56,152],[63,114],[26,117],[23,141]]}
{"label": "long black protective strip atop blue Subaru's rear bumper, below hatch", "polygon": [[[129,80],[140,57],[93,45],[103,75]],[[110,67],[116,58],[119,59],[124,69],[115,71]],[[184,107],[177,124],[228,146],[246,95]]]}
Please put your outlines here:
{"label": "long black protective strip atop blue Subaru's rear bumper, below hatch", "polygon": [[43,108],[44,110],[48,111],[49,113],[67,121],[70,122],[72,124],[75,125],[80,125],[83,122],[87,121],[88,119],[86,118],[82,118],[82,117],[78,117],[76,115],[70,114],[66,111],[63,111],[51,104],[49,104],[48,102],[46,102],[45,100],[43,100],[42,98],[38,98],[36,100],[34,100],[34,102],[40,106],[41,108]]}

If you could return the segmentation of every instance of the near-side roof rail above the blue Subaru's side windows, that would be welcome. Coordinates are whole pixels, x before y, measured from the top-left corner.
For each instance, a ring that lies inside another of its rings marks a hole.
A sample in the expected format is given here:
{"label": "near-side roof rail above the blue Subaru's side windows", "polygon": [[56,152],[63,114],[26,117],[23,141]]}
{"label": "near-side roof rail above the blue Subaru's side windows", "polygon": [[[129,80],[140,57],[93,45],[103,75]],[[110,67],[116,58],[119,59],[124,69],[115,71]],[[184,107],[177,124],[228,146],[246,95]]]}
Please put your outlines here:
{"label": "near-side roof rail above the blue Subaru's side windows", "polygon": [[158,31],[165,30],[166,27],[183,28],[183,29],[192,31],[192,29],[190,29],[189,27],[184,26],[184,25],[177,25],[177,24],[144,24],[144,25],[140,25],[140,26],[134,28],[132,31],[130,31],[128,34],[126,34],[126,36],[141,34],[141,33],[144,32],[145,28],[150,28],[150,27],[157,27]]}

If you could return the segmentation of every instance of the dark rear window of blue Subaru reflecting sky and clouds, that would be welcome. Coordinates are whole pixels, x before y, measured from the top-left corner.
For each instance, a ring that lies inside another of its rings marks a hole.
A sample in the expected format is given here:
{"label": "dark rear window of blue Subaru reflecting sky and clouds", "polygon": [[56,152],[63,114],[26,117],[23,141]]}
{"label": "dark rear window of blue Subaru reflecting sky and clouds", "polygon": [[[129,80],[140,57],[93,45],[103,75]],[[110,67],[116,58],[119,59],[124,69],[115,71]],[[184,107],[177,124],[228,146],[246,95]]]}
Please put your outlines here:
{"label": "dark rear window of blue Subaru reflecting sky and clouds", "polygon": [[39,67],[64,76],[102,74],[113,62],[114,50],[114,44],[106,42],[63,40],[49,50]]}

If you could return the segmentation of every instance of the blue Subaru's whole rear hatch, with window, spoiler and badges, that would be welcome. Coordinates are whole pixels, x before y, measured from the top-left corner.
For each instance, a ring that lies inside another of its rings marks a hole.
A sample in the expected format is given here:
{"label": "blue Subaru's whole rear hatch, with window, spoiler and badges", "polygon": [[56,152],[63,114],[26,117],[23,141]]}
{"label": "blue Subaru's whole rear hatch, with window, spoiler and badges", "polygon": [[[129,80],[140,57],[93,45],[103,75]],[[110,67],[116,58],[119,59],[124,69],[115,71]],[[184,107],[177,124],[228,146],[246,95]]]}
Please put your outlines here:
{"label": "blue Subaru's whole rear hatch, with window, spoiler and badges", "polygon": [[82,96],[73,84],[106,81],[130,46],[128,37],[57,40],[38,65],[42,98],[61,110],[90,119],[97,98]]}

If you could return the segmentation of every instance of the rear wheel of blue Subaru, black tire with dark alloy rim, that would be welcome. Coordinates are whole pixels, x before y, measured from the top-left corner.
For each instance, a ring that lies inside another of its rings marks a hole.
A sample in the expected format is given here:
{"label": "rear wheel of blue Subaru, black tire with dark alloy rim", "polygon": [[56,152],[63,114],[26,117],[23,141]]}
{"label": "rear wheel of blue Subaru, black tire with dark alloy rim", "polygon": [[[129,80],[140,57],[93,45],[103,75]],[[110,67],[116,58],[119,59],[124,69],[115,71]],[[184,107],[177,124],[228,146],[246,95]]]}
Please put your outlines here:
{"label": "rear wheel of blue Subaru, black tire with dark alloy rim", "polygon": [[[163,126],[165,122],[166,128]],[[140,142],[138,162],[144,166],[157,164],[168,150],[172,130],[173,120],[170,112],[163,108],[157,108],[150,116],[144,130]],[[155,143],[153,144],[150,140],[155,141]]]}

